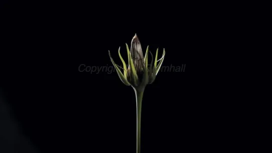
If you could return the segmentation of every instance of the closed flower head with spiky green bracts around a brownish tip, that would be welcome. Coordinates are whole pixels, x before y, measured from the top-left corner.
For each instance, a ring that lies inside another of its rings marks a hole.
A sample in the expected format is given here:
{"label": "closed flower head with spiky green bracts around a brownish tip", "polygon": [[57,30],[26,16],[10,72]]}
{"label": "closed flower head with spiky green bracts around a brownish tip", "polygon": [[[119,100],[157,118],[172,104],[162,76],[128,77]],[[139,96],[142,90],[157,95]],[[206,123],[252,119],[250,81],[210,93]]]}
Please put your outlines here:
{"label": "closed flower head with spiky green bracts around a brownish tip", "polygon": [[[132,38],[130,50],[127,44],[126,44],[126,48],[127,48],[127,54],[128,54],[128,65],[129,65],[128,68],[126,66],[124,59],[122,58],[120,54],[120,47],[119,47],[119,57],[123,63],[123,68],[122,68],[124,70],[123,73],[119,69],[119,66],[115,64],[109,52],[111,62],[113,63],[115,69],[117,70],[117,74],[120,77],[121,81],[125,85],[128,85],[128,86],[131,85],[133,88],[137,90],[143,90],[147,84],[151,84],[155,80],[156,75],[164,60],[165,50],[163,50],[162,58],[158,60],[159,49],[157,49],[154,65],[150,64],[150,66],[148,67],[148,52],[149,52],[148,48],[149,47],[147,46],[145,56],[143,56],[142,46],[137,34],[135,34],[135,36]],[[152,60],[151,60],[151,63],[152,63],[153,62],[152,53],[151,53],[151,57],[152,57]],[[158,61],[160,62],[157,65]]]}

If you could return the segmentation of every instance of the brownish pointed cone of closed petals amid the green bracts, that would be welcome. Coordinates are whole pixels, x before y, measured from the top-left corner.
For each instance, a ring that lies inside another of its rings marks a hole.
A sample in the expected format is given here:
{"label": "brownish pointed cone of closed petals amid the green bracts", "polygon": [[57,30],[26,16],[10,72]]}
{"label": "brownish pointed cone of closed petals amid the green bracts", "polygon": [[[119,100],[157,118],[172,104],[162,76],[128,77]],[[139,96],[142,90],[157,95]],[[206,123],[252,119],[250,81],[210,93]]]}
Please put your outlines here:
{"label": "brownish pointed cone of closed petals amid the green bracts", "polygon": [[[139,82],[141,82],[142,80],[145,65],[142,46],[137,34],[135,34],[135,36],[132,38],[130,54],[139,79],[138,83],[135,85],[137,86]],[[127,78],[130,83],[133,83],[133,77],[130,66],[128,67]]]}

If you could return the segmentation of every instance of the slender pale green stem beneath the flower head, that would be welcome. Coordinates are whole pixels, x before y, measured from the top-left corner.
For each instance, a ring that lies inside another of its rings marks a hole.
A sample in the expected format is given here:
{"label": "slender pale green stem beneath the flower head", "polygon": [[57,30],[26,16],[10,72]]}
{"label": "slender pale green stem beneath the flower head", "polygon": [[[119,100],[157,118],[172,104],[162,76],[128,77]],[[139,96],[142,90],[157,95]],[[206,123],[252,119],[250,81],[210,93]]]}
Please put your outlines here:
{"label": "slender pale green stem beneath the flower head", "polygon": [[144,91],[138,91],[133,88],[136,95],[136,108],[137,108],[137,153],[141,150],[141,112],[142,112],[142,100]]}

